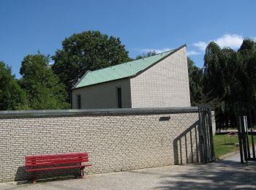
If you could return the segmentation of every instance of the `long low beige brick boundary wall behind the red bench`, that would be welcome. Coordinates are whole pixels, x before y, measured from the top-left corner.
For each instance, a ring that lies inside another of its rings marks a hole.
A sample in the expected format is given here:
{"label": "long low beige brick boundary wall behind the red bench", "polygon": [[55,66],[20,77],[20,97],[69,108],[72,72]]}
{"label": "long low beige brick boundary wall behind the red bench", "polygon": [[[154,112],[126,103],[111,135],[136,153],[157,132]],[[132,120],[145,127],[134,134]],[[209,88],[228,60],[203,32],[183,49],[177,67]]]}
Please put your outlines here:
{"label": "long low beige brick boundary wall behind the red bench", "polygon": [[93,164],[86,168],[89,174],[200,161],[195,110],[68,115],[71,111],[59,116],[0,113],[0,181],[28,180],[23,166],[29,155],[86,151]]}

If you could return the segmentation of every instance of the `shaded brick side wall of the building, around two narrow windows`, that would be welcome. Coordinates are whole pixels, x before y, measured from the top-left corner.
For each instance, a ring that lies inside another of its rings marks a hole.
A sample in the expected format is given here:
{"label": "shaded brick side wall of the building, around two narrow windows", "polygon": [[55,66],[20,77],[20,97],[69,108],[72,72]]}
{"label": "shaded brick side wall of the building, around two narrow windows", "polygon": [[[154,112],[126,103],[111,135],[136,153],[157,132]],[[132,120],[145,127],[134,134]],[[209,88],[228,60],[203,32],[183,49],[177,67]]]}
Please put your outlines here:
{"label": "shaded brick side wall of the building, around two narrow windows", "polygon": [[116,88],[121,87],[122,107],[131,107],[129,79],[99,83],[72,90],[72,109],[77,109],[77,94],[81,95],[82,109],[117,108]]}

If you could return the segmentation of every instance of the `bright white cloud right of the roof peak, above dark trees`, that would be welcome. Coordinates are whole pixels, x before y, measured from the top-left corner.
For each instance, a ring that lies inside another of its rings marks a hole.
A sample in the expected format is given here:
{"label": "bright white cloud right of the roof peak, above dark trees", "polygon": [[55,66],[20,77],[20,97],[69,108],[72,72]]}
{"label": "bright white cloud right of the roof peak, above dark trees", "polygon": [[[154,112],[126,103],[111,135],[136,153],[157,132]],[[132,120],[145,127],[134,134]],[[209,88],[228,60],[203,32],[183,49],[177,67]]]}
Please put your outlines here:
{"label": "bright white cloud right of the roof peak, above dark trees", "polygon": [[219,45],[219,47],[230,47],[230,48],[238,48],[241,46],[243,42],[244,37],[237,35],[237,34],[224,34],[222,37],[219,37],[217,39],[211,39],[208,42],[197,42],[194,43],[193,45],[195,47],[198,47],[201,51],[206,50],[206,46],[208,45],[209,42],[214,41]]}

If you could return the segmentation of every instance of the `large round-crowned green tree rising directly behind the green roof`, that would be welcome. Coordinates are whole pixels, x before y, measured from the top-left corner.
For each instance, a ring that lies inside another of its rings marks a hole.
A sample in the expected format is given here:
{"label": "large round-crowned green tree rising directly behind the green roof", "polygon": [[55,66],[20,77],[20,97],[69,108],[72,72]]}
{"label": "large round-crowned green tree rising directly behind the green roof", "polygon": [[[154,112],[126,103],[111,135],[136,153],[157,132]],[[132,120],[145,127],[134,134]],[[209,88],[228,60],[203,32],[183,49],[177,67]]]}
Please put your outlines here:
{"label": "large round-crowned green tree rising directly behind the green roof", "polygon": [[86,71],[120,64],[129,57],[119,38],[99,31],[83,31],[64,39],[53,60],[53,72],[69,92]]}

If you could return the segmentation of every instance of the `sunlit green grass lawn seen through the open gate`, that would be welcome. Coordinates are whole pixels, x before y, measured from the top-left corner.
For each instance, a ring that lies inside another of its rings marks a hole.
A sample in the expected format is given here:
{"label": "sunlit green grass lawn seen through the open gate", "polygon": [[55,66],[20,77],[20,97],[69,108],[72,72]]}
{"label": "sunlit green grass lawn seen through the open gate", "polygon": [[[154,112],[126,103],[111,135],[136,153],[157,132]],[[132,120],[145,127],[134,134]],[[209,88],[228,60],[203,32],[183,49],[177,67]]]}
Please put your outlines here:
{"label": "sunlit green grass lawn seen through the open gate", "polygon": [[[251,144],[252,139],[251,136],[249,135],[249,143]],[[255,145],[256,145],[256,140]],[[225,134],[216,134],[214,135],[214,152],[215,156],[218,158],[220,156],[223,156],[225,153],[231,153],[231,152],[236,152],[239,151],[239,140],[238,140],[238,135],[236,134],[233,137],[226,137],[225,140]]]}

